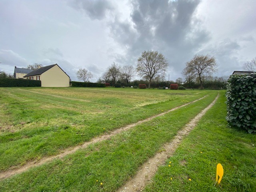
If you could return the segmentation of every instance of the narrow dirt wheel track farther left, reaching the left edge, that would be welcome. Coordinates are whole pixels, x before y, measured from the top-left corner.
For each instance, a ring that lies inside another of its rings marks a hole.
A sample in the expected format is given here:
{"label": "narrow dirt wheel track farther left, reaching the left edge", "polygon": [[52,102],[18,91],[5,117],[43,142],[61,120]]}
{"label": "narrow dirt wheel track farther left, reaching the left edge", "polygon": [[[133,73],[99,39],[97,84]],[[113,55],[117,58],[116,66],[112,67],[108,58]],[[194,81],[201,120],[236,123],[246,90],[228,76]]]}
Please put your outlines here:
{"label": "narrow dirt wheel track farther left, reaching the left edge", "polygon": [[166,113],[168,113],[168,112],[174,111],[174,110],[176,110],[176,109],[178,109],[178,108],[182,108],[182,107],[184,107],[184,106],[186,106],[186,105],[188,105],[188,104],[197,102],[198,100],[201,100],[201,99],[203,99],[203,98],[205,98],[205,97],[206,97],[206,96],[204,96],[204,97],[202,97],[202,98],[199,98],[199,99],[197,99],[197,100],[194,100],[194,101],[192,101],[192,102],[188,102],[188,103],[186,103],[186,104],[183,104],[183,105],[181,105],[181,106],[172,108],[171,110],[168,110],[168,111],[163,112],[163,113],[161,113],[161,114],[158,114],[158,115],[152,116],[152,117],[150,117],[150,118],[147,118],[147,119],[138,121],[138,122],[136,122],[136,123],[134,123],[134,124],[130,124],[130,125],[124,126],[124,127],[122,127],[122,128],[118,128],[118,129],[116,129],[116,130],[114,130],[114,131],[112,131],[112,132],[110,132],[110,133],[108,133],[108,134],[99,136],[99,137],[97,137],[97,138],[93,138],[93,139],[92,139],[91,141],[89,141],[89,142],[84,142],[84,144],[82,144],[82,145],[79,145],[79,146],[76,146],[76,147],[72,147],[72,148],[67,148],[66,150],[62,151],[62,152],[61,152],[60,154],[58,154],[58,155],[50,156],[50,157],[47,157],[47,158],[42,158],[42,159],[36,160],[36,161],[30,161],[30,162],[24,164],[23,166],[21,166],[21,167],[19,167],[19,168],[14,168],[14,169],[10,169],[10,170],[4,171],[4,172],[0,172],[0,179],[8,178],[8,177],[10,177],[10,176],[12,176],[12,175],[14,175],[14,174],[20,174],[20,173],[22,173],[22,172],[24,172],[24,171],[26,171],[26,170],[28,170],[28,169],[30,169],[30,168],[32,168],[32,167],[40,166],[40,165],[42,165],[42,164],[44,164],[44,163],[46,163],[46,162],[50,162],[50,161],[52,161],[52,160],[54,160],[54,159],[56,159],[56,158],[63,158],[64,156],[66,156],[66,155],[68,155],[68,154],[72,154],[72,153],[76,152],[76,150],[78,150],[78,149],[86,148],[86,147],[87,147],[88,145],[90,145],[90,144],[94,144],[94,143],[96,143],[96,142],[100,142],[100,141],[103,141],[103,140],[107,140],[108,138],[110,138],[110,137],[112,137],[112,136],[114,136],[114,135],[116,135],[116,134],[122,133],[123,131],[126,131],[126,130],[128,130],[128,129],[130,129],[130,128],[136,126],[136,125],[139,125],[139,124],[142,124],[142,123],[147,122],[147,121],[149,121],[149,120],[152,120],[153,118],[156,118],[156,117],[158,117],[158,116],[162,116],[162,115],[164,115],[164,114],[166,114]]}

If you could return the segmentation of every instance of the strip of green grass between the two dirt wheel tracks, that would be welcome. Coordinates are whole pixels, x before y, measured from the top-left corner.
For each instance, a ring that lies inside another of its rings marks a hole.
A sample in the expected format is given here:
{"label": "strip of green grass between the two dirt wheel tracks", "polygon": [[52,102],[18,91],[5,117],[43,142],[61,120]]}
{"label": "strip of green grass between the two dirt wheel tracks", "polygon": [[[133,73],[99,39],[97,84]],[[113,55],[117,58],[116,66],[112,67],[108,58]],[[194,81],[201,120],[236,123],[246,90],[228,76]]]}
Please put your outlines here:
{"label": "strip of green grass between the two dirt wheel tracks", "polygon": [[217,92],[211,93],[110,140],[2,180],[0,191],[115,191],[214,100]]}

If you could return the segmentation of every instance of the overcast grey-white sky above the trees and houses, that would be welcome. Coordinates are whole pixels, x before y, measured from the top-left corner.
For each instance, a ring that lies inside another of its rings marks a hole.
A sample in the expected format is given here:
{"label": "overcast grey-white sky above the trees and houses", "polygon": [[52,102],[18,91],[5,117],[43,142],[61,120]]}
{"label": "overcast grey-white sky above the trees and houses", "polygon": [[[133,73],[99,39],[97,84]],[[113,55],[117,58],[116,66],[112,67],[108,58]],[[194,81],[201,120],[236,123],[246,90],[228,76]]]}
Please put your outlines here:
{"label": "overcast grey-white sky above the trees and houses", "polygon": [[[166,80],[195,54],[229,76],[256,57],[256,0],[0,0],[0,71],[58,64],[72,80],[96,82],[113,62],[133,65],[144,50],[168,59]],[[169,76],[170,75],[170,76]],[[139,79],[140,77],[136,77]]]}

